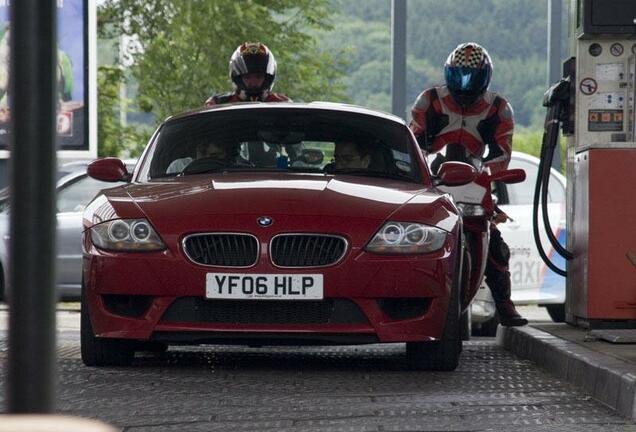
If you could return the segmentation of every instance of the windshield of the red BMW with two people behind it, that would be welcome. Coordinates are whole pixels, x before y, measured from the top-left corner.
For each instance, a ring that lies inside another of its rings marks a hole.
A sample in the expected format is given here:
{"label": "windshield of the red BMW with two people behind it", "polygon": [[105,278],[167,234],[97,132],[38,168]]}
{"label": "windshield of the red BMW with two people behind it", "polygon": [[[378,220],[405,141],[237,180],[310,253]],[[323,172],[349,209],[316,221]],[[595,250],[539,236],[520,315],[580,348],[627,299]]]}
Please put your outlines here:
{"label": "windshield of the red BMW with two people behind it", "polygon": [[223,110],[168,121],[144,171],[149,179],[285,171],[419,181],[413,148],[404,124],[379,116],[316,109]]}

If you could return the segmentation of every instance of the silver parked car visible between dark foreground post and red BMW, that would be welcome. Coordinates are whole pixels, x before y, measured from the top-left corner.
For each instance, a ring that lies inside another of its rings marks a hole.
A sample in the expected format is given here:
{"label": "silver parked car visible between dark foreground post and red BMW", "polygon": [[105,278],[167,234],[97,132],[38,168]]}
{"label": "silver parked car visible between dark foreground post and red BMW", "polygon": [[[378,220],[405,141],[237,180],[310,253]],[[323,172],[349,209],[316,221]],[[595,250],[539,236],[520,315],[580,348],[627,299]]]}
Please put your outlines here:
{"label": "silver parked car visible between dark foreground post and red BMW", "polygon": [[62,295],[79,294],[82,278],[82,214],[101,189],[122,183],[95,180],[85,173],[57,191],[57,283]]}

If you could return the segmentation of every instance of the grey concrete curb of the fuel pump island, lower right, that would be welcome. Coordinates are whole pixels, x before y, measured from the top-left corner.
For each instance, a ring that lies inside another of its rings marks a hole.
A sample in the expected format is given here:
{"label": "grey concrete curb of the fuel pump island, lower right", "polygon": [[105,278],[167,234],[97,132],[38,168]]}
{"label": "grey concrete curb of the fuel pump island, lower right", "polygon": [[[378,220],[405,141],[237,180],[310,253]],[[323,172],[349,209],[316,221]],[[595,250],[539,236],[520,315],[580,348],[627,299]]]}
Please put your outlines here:
{"label": "grey concrete curb of the fuel pump island, lower right", "polygon": [[499,326],[497,344],[636,421],[635,365],[530,326]]}

